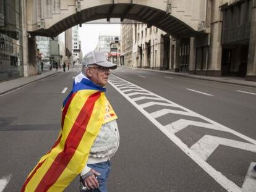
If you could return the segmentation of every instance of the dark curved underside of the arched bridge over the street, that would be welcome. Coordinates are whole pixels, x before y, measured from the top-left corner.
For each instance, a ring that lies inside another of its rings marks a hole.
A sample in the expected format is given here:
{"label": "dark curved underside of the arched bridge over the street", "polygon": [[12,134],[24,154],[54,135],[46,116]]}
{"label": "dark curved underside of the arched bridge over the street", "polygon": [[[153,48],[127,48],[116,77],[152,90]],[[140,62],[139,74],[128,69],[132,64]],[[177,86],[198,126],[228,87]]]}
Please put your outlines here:
{"label": "dark curved underside of the arched bridge over the street", "polygon": [[166,14],[163,10],[138,4],[105,4],[83,9],[59,20],[49,28],[31,31],[31,33],[33,35],[54,37],[75,25],[98,19],[109,20],[110,18],[131,19],[147,23],[148,27],[153,25],[176,38],[194,36],[197,33],[189,25],[171,14]]}

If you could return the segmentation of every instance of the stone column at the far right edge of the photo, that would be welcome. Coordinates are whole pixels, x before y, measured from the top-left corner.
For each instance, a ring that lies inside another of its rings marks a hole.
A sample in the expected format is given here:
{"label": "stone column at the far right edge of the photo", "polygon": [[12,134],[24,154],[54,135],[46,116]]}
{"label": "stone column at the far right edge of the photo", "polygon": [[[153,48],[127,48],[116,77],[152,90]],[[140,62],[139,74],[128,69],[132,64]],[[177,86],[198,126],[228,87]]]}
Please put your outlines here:
{"label": "stone column at the far right edge of the photo", "polygon": [[256,81],[256,0],[252,8],[247,75],[245,80]]}

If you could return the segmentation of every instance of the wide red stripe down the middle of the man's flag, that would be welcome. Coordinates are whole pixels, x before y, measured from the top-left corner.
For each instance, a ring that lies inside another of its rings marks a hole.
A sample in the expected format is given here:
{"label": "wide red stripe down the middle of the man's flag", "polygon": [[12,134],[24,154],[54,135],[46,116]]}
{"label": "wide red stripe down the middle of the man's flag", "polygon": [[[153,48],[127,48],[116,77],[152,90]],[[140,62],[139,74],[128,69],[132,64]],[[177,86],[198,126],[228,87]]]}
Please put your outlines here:
{"label": "wide red stripe down the middle of the man's flag", "polygon": [[58,154],[35,191],[47,191],[58,180],[64,169],[66,169],[70,159],[72,159],[77,147],[79,146],[83,134],[85,133],[87,124],[92,115],[94,104],[99,97],[100,92],[97,92],[87,99],[79,113],[79,116],[75,120],[72,129],[70,130],[69,136],[67,136],[64,150]]}

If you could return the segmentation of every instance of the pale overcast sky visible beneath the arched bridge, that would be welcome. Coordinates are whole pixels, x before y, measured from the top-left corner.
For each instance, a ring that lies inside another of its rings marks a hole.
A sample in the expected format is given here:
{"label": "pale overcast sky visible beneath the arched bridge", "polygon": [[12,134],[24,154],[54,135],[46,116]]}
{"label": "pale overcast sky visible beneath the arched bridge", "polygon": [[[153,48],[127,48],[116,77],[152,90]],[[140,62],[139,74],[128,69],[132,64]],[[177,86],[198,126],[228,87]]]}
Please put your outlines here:
{"label": "pale overcast sky visible beneath the arched bridge", "polygon": [[99,35],[120,35],[120,31],[120,24],[83,24],[79,27],[83,56],[96,48]]}

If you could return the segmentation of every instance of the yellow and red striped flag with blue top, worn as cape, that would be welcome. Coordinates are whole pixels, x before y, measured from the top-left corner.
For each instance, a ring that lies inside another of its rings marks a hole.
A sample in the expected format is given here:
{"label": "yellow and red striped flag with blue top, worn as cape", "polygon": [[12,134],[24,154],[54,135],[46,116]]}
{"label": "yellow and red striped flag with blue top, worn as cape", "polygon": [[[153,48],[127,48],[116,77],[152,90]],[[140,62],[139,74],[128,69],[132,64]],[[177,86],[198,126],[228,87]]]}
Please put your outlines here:
{"label": "yellow and red striped flag with blue top, worn as cape", "polygon": [[21,191],[63,191],[82,172],[101,125],[117,119],[105,91],[82,73],[75,77],[63,102],[58,140],[30,172]]}

